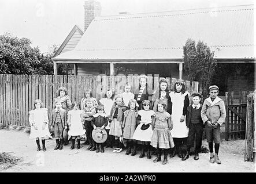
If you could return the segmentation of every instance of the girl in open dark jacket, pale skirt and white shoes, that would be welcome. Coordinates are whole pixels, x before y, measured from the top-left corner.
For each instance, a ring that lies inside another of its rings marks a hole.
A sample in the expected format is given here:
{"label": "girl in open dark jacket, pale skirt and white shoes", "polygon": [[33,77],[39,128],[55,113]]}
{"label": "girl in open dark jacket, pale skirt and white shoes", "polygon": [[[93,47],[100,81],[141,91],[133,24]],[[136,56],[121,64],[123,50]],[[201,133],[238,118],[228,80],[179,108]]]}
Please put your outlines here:
{"label": "girl in open dark jacket, pale skirt and white shoes", "polygon": [[123,151],[122,144],[119,141],[120,136],[123,135],[122,132],[122,124],[124,119],[124,112],[127,109],[124,106],[123,97],[121,95],[117,95],[115,98],[115,103],[112,106],[111,112],[110,112],[110,131],[109,135],[114,136],[114,140],[116,141],[116,148],[114,148],[113,152],[120,153]]}

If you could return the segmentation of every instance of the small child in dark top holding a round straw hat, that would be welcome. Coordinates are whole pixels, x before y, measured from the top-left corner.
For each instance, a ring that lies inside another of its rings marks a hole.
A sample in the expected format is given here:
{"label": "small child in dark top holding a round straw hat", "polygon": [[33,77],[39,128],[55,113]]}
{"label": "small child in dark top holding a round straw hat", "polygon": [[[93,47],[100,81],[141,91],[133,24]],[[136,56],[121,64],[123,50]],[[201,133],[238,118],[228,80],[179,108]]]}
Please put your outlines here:
{"label": "small child in dark top holding a round straw hat", "polygon": [[[98,105],[97,107],[98,113],[93,115],[93,118],[91,120],[92,127],[96,130],[97,128],[101,128],[101,130],[105,129],[107,125],[107,115],[104,112],[104,106]],[[94,140],[93,140],[94,141]],[[94,144],[96,144],[96,152],[98,153],[101,151],[102,153],[104,151],[103,143],[96,143],[94,141]]]}

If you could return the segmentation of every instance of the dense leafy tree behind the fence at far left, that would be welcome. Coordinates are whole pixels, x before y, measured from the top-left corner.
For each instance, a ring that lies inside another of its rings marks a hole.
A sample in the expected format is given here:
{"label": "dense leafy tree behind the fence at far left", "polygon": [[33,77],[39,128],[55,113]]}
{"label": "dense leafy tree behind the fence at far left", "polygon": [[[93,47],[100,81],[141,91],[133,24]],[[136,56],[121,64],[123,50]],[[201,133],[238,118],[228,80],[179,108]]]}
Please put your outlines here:
{"label": "dense leafy tree behind the fence at far left", "polygon": [[[56,45],[53,45],[57,49]],[[18,38],[10,33],[0,35],[0,74],[39,74],[53,75],[53,53],[40,52],[31,47],[27,38]],[[65,74],[64,64],[58,68],[58,74]]]}

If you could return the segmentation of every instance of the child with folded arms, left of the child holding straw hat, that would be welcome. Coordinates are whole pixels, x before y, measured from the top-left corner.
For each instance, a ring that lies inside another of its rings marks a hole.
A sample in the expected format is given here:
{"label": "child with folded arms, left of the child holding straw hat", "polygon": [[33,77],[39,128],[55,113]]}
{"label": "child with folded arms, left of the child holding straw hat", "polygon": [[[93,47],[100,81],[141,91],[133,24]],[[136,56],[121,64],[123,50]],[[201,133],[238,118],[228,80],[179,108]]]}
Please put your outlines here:
{"label": "child with folded arms, left of the child holding straw hat", "polygon": [[86,127],[86,137],[89,141],[89,146],[87,147],[86,150],[90,150],[90,151],[95,151],[96,147],[94,144],[94,141],[92,140],[92,127],[91,127],[91,120],[92,120],[92,116],[96,114],[96,108],[93,105],[93,100],[91,98],[87,98],[86,99],[86,107],[84,108],[84,126]]}

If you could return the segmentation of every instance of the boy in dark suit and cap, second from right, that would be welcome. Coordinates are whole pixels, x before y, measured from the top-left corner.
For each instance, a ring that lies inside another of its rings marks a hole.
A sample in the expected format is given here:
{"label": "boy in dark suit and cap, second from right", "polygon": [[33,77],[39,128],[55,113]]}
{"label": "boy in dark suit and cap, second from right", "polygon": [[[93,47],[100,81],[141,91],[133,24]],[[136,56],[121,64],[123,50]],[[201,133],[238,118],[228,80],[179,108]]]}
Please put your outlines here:
{"label": "boy in dark suit and cap, second from right", "polygon": [[[187,152],[185,156],[181,160],[186,160],[190,156],[190,148],[194,145],[195,140],[195,160],[199,159],[198,152],[202,145],[202,135],[203,135],[203,120],[201,118],[201,110],[202,105],[201,102],[201,94],[193,93],[192,94],[192,105],[187,108],[186,115],[186,125],[190,129],[188,132],[188,144],[187,144]],[[196,137],[196,138],[195,138]]]}

